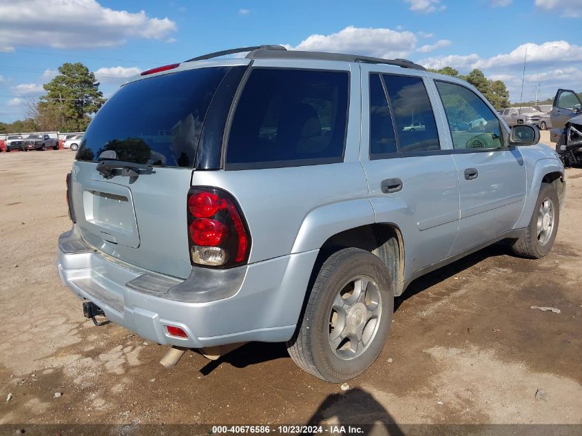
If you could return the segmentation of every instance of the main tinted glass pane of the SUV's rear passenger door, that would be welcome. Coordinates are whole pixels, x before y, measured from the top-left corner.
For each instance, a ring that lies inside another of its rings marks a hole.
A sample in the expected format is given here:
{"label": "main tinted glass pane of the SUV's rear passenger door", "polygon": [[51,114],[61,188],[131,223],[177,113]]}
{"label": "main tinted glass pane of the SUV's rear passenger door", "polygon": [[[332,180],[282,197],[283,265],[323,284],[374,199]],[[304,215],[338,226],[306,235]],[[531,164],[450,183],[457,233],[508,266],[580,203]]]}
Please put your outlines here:
{"label": "main tinted glass pane of the SUV's rear passenger door", "polygon": [[384,74],[384,83],[393,110],[399,151],[439,150],[437,123],[422,79]]}

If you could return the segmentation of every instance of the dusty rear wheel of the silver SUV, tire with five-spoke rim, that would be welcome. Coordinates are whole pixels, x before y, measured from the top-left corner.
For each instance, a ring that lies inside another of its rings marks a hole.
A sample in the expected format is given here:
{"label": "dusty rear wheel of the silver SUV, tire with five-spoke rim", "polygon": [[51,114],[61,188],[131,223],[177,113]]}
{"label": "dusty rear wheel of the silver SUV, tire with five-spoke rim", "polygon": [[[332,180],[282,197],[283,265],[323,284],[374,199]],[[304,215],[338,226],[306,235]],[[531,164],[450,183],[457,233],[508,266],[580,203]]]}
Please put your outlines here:
{"label": "dusty rear wheel of the silver SUV, tire with five-spoke rim", "polygon": [[[358,299],[354,293],[362,288]],[[380,355],[393,311],[392,282],[384,262],[361,249],[337,251],[318,272],[298,329],[287,342],[289,355],[322,380],[350,380]]]}

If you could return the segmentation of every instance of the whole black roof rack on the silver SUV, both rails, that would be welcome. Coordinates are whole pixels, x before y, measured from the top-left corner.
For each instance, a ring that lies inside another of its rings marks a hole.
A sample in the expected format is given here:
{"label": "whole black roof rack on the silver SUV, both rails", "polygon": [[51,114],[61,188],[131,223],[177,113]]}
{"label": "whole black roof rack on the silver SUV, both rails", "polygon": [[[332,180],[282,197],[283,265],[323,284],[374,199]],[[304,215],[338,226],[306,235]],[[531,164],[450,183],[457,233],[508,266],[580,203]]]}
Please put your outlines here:
{"label": "whole black roof rack on the silver SUV, both rails", "polygon": [[186,62],[203,61],[227,54],[249,52],[247,59],[313,59],[320,61],[344,61],[344,62],[361,62],[361,63],[382,63],[386,65],[396,65],[402,68],[411,68],[413,70],[426,70],[422,65],[418,65],[408,59],[382,59],[372,56],[360,56],[359,54],[327,53],[327,52],[302,52],[300,50],[287,50],[282,45],[253,45],[251,47],[232,48],[231,50],[222,50],[203,54]]}

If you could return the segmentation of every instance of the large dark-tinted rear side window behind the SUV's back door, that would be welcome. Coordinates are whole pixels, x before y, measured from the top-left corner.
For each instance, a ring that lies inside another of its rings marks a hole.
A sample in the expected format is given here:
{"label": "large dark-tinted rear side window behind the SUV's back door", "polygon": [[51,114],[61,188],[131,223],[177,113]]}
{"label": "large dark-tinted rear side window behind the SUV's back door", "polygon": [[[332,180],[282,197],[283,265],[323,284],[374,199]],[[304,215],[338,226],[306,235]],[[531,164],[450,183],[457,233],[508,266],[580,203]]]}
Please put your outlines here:
{"label": "large dark-tinted rear side window behind the SUV's back door", "polygon": [[254,69],[231,123],[227,169],[342,162],[349,74]]}

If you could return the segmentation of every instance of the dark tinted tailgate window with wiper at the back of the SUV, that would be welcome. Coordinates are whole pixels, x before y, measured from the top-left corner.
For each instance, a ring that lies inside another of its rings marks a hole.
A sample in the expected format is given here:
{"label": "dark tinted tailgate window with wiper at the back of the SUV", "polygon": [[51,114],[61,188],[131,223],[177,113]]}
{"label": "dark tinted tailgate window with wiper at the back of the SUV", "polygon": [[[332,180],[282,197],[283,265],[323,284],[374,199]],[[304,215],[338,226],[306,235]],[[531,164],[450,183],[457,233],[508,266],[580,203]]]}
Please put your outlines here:
{"label": "dark tinted tailgate window with wiper at the back of the SUV", "polygon": [[230,69],[199,68],[124,85],[87,127],[76,158],[95,162],[114,150],[125,162],[192,167],[208,107]]}

